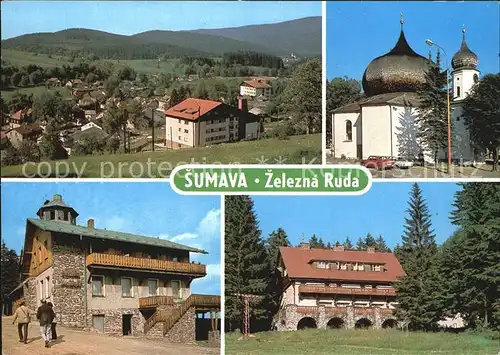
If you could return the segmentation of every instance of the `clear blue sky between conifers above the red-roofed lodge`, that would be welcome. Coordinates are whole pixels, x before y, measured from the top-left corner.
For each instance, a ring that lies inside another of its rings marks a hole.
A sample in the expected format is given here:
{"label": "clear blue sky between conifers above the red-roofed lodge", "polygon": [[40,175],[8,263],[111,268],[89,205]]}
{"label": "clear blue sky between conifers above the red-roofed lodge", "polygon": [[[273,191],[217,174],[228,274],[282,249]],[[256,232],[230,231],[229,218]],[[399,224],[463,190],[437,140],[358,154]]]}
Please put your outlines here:
{"label": "clear blue sky between conifers above the red-roofed lodge", "polygon": [[[461,188],[443,182],[419,185],[431,213],[436,242],[442,244],[456,230],[449,216],[455,192]],[[374,182],[361,196],[253,196],[253,200],[264,238],[279,227],[292,245],[307,242],[313,234],[325,243],[349,237],[355,244],[358,237],[371,233],[382,235],[394,248],[401,243],[411,186],[410,182]]]}

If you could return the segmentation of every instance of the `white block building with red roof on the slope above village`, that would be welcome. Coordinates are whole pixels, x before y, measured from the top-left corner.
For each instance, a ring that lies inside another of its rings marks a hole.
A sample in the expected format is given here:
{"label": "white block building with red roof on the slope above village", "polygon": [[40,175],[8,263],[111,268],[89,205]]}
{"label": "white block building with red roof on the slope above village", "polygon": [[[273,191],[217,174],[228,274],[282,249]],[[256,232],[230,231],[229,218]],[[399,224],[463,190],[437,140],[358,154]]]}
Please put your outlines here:
{"label": "white block building with red roof on the slope above village", "polygon": [[246,99],[238,107],[189,98],[165,111],[167,147],[207,146],[260,138],[260,118],[248,112]]}

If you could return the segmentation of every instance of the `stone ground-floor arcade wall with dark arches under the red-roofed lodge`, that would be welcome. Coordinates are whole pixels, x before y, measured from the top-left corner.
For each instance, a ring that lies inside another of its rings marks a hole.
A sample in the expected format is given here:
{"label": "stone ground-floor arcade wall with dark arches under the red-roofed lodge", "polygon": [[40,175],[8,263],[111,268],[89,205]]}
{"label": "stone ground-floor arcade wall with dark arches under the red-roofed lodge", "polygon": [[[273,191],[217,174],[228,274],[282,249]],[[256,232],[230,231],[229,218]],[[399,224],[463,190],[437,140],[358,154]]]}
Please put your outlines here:
{"label": "stone ground-floor arcade wall with dark arches under the red-roofed lodge", "polygon": [[283,308],[276,322],[277,330],[297,330],[301,319],[314,319],[317,328],[328,328],[328,322],[334,318],[342,320],[343,327],[355,328],[360,319],[368,319],[372,327],[382,328],[382,324],[389,319],[395,319],[389,309],[355,308],[355,307],[300,307],[288,305]]}

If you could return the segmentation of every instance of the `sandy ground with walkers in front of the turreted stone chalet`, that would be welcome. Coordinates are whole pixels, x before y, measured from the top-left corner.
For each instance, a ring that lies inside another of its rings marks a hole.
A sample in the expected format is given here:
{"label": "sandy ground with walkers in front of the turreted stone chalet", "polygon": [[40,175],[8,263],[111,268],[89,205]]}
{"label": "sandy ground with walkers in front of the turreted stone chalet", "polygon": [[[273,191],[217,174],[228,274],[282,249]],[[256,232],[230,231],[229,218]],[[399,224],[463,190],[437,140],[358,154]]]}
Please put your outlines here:
{"label": "sandy ground with walkers in front of the turreted stone chalet", "polygon": [[110,337],[58,327],[58,339],[44,347],[38,324],[30,323],[28,344],[19,343],[12,317],[2,317],[2,355],[218,355],[219,349],[162,340]]}

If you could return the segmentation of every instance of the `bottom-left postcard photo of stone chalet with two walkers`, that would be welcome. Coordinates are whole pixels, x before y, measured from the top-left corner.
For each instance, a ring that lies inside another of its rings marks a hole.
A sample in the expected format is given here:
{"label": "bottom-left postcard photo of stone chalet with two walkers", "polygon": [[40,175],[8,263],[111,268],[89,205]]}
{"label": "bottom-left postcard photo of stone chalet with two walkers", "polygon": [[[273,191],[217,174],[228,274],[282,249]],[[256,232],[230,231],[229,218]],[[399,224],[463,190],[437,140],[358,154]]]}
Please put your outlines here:
{"label": "bottom-left postcard photo of stone chalet with two walkers", "polygon": [[3,354],[220,354],[219,197],[1,188]]}

